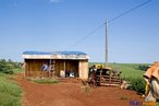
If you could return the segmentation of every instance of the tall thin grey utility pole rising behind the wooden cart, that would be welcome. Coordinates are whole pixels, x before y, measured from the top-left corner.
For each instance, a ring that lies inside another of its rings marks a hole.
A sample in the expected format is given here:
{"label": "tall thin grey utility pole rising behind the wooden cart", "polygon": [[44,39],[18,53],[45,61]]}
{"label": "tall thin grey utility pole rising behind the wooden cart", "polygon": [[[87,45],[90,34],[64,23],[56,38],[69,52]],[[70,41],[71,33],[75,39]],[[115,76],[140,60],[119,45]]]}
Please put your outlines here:
{"label": "tall thin grey utility pole rising behind the wooden cart", "polygon": [[105,58],[106,58],[106,60],[105,60],[105,67],[108,67],[108,30],[107,30],[107,20],[106,20],[106,22],[105,22],[105,25],[106,25],[106,56],[105,56]]}

